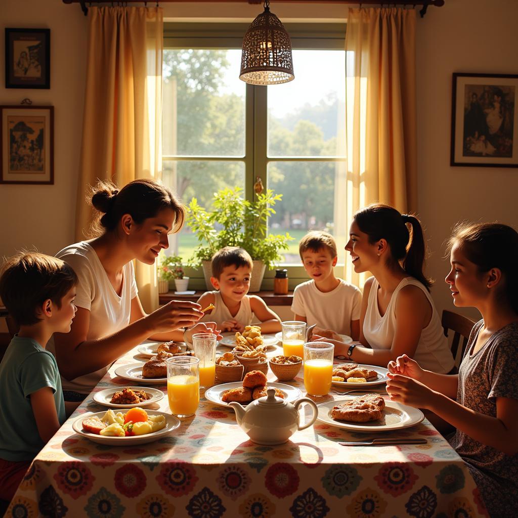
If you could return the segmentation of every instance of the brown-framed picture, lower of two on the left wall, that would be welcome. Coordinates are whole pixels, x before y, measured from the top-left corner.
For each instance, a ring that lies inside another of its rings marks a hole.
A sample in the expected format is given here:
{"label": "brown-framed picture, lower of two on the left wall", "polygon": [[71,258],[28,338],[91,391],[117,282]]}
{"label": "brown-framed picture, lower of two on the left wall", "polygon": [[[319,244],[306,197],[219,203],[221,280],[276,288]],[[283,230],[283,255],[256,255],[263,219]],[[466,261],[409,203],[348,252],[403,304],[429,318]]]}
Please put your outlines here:
{"label": "brown-framed picture, lower of two on the left wall", "polygon": [[0,183],[54,183],[54,107],[0,106]]}

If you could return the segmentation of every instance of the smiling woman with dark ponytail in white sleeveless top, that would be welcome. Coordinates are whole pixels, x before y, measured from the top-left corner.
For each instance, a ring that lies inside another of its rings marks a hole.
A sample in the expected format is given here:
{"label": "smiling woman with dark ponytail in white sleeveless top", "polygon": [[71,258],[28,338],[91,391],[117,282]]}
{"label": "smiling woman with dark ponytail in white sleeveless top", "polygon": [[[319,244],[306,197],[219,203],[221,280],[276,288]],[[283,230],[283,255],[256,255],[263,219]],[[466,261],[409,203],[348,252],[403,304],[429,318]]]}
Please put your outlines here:
{"label": "smiling woman with dark ponytail in white sleeveless top", "polygon": [[346,250],[365,282],[359,344],[335,343],[335,354],[354,363],[386,365],[401,354],[446,373],[454,359],[423,273],[425,241],[419,220],[387,205],[354,214]]}

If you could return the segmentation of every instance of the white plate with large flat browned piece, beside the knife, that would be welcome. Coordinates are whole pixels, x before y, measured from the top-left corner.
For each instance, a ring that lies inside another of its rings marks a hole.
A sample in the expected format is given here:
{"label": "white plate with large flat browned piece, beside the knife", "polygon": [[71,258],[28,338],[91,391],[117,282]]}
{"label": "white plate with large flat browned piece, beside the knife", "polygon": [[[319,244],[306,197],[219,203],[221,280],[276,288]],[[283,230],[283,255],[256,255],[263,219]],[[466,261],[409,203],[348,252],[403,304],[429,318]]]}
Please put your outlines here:
{"label": "white plate with large flat browned piece, beside the knife", "polygon": [[401,405],[380,394],[344,396],[340,400],[318,405],[322,423],[353,431],[390,431],[408,428],[424,419],[418,408]]}

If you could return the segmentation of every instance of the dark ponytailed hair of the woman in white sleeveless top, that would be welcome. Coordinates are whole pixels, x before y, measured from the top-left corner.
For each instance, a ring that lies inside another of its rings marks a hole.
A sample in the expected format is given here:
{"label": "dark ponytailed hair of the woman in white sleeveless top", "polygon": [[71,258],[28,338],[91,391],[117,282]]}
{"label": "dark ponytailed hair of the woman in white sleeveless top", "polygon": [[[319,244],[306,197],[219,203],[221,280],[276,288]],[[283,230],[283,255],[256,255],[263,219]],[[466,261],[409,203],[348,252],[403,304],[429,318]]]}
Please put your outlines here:
{"label": "dark ponytailed hair of the woman in white sleeveless top", "polygon": [[[386,239],[391,257],[389,262],[401,267],[419,282],[429,287],[433,284],[423,272],[426,243],[420,221],[413,215],[401,214],[389,205],[373,204],[358,210],[354,220],[359,229],[369,236],[369,242]],[[411,232],[407,225],[410,225]]]}

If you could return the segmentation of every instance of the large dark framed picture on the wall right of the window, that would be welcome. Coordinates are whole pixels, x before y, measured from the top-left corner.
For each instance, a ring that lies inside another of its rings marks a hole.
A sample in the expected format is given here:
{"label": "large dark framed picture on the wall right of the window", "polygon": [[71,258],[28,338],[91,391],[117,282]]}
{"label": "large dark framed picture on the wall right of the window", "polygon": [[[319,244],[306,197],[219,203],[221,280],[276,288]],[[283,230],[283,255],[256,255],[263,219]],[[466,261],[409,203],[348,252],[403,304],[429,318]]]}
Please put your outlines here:
{"label": "large dark framed picture on the wall right of the window", "polygon": [[453,74],[452,166],[518,167],[518,75]]}

